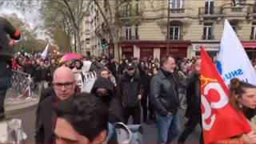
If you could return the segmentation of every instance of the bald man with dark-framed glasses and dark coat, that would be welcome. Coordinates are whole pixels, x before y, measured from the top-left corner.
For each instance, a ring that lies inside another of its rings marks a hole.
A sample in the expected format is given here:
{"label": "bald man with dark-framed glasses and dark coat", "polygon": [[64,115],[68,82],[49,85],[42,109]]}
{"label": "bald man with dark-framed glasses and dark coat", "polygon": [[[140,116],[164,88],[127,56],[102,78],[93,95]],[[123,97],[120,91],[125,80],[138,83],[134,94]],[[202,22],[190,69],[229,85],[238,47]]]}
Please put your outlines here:
{"label": "bald man with dark-framed glasses and dark coat", "polygon": [[65,100],[74,94],[76,82],[70,68],[62,66],[54,71],[54,92],[52,96],[44,99],[38,106],[36,118],[35,142],[53,143],[54,127],[56,124],[55,106],[56,102]]}

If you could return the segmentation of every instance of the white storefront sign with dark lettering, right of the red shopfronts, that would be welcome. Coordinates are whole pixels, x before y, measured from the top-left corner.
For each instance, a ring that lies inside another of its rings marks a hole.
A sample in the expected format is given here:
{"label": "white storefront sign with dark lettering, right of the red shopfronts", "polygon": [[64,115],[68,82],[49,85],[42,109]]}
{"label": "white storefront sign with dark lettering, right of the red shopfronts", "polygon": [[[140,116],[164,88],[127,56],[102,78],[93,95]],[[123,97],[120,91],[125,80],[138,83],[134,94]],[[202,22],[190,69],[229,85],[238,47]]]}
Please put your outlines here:
{"label": "white storefront sign with dark lettering, right of the red shopfronts", "polygon": [[220,44],[218,43],[197,43],[192,44],[192,50],[200,51],[200,46],[204,46],[206,51],[218,51],[220,48]]}

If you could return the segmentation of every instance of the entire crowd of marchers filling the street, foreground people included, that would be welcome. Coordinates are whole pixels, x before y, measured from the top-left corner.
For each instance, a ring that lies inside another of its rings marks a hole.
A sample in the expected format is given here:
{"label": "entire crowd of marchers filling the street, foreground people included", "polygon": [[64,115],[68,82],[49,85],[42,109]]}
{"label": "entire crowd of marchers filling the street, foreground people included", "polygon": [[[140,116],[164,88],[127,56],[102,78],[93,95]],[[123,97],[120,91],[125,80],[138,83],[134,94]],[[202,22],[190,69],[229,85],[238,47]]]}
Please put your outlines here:
{"label": "entire crowd of marchers filling the street, foreground people included", "polygon": [[[21,38],[10,22],[0,17],[0,120],[10,120],[3,102],[12,74],[11,58],[12,69],[30,74],[37,84],[36,143],[142,142],[139,135],[131,136],[134,129],[142,133],[141,115],[146,124],[156,123],[159,143],[172,142],[178,135],[178,143],[184,143],[198,124],[202,128],[201,59],[166,55],[160,61],[125,58],[116,62],[114,58],[85,57],[58,63],[58,55],[42,59],[37,54],[15,54],[12,58],[12,44],[6,35]],[[255,92],[254,85],[231,79],[230,104],[246,116],[252,129],[218,143],[256,142]],[[179,108],[186,110],[188,118],[181,134]],[[130,116],[132,127],[128,125]],[[225,124],[230,125],[230,118],[226,117]],[[200,143],[204,143],[202,134]]]}

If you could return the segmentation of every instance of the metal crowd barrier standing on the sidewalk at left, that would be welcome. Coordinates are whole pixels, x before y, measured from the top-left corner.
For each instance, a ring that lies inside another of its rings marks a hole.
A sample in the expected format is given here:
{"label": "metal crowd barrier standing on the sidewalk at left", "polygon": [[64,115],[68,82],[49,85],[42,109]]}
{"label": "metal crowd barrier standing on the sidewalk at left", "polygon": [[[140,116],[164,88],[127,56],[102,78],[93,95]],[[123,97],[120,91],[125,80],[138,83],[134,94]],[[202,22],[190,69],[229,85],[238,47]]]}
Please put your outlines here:
{"label": "metal crowd barrier standing on the sidewalk at left", "polygon": [[32,99],[33,91],[31,90],[31,86],[33,84],[33,80],[30,77],[30,74],[22,73],[18,70],[12,71],[13,74],[10,78],[10,88],[18,92],[18,97],[14,99],[18,99],[23,96],[25,96],[26,99]]}

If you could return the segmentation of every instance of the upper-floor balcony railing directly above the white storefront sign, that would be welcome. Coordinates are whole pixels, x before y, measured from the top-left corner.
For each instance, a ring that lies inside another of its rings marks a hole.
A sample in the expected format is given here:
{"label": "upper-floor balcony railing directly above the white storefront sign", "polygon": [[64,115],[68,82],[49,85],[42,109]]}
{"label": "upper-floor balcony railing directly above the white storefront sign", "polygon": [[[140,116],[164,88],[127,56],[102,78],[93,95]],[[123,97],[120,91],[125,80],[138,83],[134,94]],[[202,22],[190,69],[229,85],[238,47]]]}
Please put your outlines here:
{"label": "upper-floor balcony railing directly above the white storefront sign", "polygon": [[222,7],[220,6],[199,8],[199,15],[218,15],[218,14],[222,14]]}

